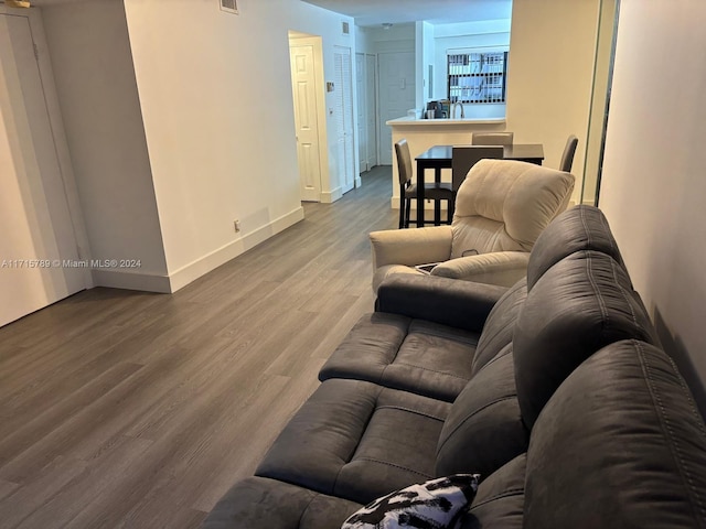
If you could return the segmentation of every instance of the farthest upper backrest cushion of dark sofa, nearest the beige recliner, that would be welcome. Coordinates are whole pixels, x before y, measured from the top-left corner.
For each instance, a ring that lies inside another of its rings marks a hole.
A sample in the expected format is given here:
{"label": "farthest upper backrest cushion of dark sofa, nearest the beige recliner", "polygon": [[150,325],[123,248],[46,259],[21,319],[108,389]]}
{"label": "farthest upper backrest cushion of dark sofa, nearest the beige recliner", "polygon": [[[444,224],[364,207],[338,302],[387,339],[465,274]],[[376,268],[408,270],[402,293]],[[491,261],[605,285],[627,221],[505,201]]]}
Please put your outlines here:
{"label": "farthest upper backrest cushion of dark sofa, nearest the beige recliner", "polygon": [[580,250],[602,251],[624,268],[603,212],[588,205],[575,206],[557,215],[537,237],[527,263],[527,288],[532,290],[549,268]]}

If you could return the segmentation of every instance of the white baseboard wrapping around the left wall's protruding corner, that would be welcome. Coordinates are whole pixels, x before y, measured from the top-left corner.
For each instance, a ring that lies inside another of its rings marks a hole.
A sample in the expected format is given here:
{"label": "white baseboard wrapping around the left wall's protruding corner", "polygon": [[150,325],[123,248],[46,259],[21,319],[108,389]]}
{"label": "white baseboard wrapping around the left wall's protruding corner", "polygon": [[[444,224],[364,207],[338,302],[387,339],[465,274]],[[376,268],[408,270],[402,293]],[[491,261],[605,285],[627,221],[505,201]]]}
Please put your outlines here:
{"label": "white baseboard wrapping around the left wall's protruding corner", "polygon": [[186,287],[192,281],[238,257],[250,248],[264,242],[271,236],[293,226],[304,218],[303,207],[282,215],[266,226],[246,234],[237,240],[229,242],[217,250],[207,253],[200,259],[171,272],[169,276],[137,273],[133,271],[93,269],[92,276],[96,287],[110,287],[115,289],[142,290],[147,292],[173,293]]}

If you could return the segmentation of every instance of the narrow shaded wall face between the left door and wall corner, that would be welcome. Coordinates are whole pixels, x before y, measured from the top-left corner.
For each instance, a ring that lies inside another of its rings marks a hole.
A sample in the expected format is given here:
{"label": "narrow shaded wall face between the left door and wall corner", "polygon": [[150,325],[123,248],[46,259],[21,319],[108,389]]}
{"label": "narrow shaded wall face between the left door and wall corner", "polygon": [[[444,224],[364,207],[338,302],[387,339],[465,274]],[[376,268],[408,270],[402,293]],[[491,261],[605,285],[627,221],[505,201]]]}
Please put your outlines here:
{"label": "narrow shaded wall face between the left door and wall corner", "polygon": [[119,1],[42,8],[97,284],[169,291],[150,162]]}

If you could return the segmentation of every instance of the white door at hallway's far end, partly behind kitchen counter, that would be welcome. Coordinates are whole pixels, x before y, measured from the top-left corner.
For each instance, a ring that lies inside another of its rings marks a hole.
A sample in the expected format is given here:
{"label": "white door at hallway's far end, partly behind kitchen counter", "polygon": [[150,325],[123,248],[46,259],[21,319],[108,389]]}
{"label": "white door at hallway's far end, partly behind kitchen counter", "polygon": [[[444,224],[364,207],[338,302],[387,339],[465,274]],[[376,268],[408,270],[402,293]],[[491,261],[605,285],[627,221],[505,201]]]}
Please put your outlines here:
{"label": "white door at hallway's far end, partly behind kitchen counter", "polygon": [[379,61],[379,163],[393,163],[393,131],[385,122],[407,116],[415,108],[414,52],[381,53]]}

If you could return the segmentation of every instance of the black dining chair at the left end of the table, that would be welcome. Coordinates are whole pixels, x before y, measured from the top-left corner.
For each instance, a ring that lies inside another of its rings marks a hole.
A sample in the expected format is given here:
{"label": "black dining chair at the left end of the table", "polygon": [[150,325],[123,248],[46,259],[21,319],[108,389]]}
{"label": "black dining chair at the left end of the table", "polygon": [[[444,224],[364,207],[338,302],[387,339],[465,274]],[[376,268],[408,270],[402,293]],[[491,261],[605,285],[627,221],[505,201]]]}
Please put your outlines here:
{"label": "black dining chair at the left end of the table", "polygon": [[[409,227],[411,201],[417,198],[417,185],[413,182],[411,154],[409,144],[403,139],[395,143],[397,171],[399,173],[399,228]],[[453,218],[453,190],[449,183],[425,183],[424,197],[430,201],[447,201],[447,224]],[[424,218],[424,210],[417,212]],[[436,218],[435,218],[436,224]]]}

